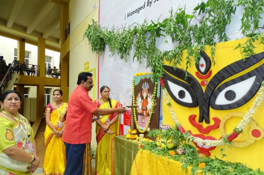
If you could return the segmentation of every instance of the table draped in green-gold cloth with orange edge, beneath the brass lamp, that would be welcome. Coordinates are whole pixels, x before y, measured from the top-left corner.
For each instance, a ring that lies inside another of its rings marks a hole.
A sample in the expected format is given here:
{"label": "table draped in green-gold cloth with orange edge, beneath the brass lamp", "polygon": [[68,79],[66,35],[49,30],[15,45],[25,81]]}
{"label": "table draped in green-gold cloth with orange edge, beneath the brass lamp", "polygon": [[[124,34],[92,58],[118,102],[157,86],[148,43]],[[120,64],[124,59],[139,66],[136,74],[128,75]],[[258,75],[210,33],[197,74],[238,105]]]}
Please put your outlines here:
{"label": "table draped in green-gold cloth with orange edge, beneath the brass lamp", "polygon": [[126,175],[136,157],[140,144],[126,139],[125,135],[115,136],[111,140],[111,171],[112,174]]}

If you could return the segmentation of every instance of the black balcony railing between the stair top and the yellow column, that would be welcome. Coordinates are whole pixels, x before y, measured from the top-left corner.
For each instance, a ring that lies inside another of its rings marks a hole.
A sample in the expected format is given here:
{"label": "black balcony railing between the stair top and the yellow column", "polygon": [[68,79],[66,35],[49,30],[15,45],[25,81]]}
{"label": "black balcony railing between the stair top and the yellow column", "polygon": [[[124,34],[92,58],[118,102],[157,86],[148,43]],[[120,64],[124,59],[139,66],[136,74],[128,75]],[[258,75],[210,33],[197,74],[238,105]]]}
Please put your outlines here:
{"label": "black balcony railing between the stair top and the yellow column", "polygon": [[20,75],[30,75],[37,76],[37,71],[39,70],[38,65],[26,64],[25,62],[20,63],[18,60],[15,60],[14,72]]}

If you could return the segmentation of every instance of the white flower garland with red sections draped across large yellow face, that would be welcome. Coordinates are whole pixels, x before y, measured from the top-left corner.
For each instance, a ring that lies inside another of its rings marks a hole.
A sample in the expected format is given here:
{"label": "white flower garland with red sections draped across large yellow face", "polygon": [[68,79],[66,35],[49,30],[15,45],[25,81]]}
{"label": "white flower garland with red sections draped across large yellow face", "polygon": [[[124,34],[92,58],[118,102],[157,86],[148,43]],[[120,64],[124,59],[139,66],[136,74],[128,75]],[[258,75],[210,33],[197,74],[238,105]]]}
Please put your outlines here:
{"label": "white flower garland with red sections draped across large yellow face", "polygon": [[[162,92],[164,95],[164,99],[166,100],[166,104],[170,104],[168,91],[165,88],[163,78],[161,78],[159,81],[162,85]],[[183,129],[183,127],[181,126],[172,106],[168,105],[168,107],[169,107],[169,112],[172,116],[173,121],[175,122],[177,129],[179,131],[181,131],[181,133],[187,139],[190,139],[193,142],[196,142],[197,144],[200,144],[200,145],[206,145],[208,147],[213,147],[213,146],[225,145],[227,143],[232,142],[235,138],[237,138],[238,135],[244,131],[244,129],[246,128],[248,123],[251,121],[253,114],[255,114],[255,112],[256,112],[255,108],[259,108],[263,100],[264,100],[264,81],[261,82],[261,87],[259,89],[258,95],[257,95],[256,99],[254,100],[251,108],[247,111],[247,113],[245,114],[243,119],[238,123],[237,127],[234,128],[233,132],[227,136],[223,136],[223,138],[221,138],[220,140],[210,140],[210,141],[209,140],[205,141],[199,137],[194,137],[194,136],[190,135],[190,133],[188,131],[185,131]]]}

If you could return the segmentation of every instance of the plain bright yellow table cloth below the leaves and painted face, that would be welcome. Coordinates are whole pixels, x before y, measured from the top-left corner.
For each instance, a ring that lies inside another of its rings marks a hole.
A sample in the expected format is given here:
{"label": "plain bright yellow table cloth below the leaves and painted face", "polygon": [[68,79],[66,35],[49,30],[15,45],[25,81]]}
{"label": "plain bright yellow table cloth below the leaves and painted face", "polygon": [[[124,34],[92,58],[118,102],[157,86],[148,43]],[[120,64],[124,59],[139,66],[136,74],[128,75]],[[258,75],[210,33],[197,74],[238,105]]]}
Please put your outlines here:
{"label": "plain bright yellow table cloth below the leaves and painted face", "polygon": [[140,149],[134,159],[130,173],[131,175],[191,174],[191,167],[188,167],[186,172],[181,166],[182,164],[178,161],[169,160],[166,157],[157,156]]}

